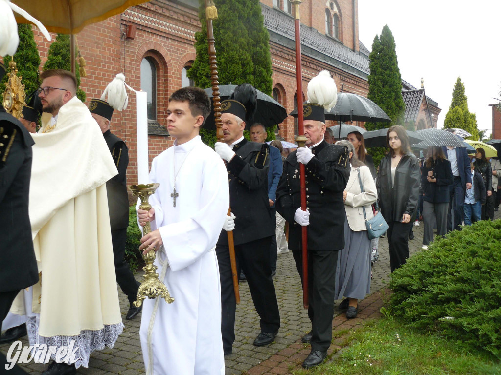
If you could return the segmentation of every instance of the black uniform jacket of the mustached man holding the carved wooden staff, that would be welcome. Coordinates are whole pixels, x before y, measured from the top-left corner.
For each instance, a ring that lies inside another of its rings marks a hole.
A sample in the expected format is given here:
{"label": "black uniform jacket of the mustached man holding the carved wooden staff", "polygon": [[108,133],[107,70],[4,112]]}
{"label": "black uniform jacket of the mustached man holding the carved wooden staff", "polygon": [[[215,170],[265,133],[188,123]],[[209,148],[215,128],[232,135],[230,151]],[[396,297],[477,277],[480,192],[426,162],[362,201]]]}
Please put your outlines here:
{"label": "black uniform jacket of the mustached man holding the carved wooden staff", "polygon": [[[275,215],[268,200],[268,144],[249,142],[245,138],[233,146],[236,155],[226,163],[229,179],[229,205],[235,215],[234,244],[275,234]],[[273,216],[273,217],[272,217]],[[217,241],[227,245],[223,229]]]}

